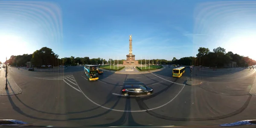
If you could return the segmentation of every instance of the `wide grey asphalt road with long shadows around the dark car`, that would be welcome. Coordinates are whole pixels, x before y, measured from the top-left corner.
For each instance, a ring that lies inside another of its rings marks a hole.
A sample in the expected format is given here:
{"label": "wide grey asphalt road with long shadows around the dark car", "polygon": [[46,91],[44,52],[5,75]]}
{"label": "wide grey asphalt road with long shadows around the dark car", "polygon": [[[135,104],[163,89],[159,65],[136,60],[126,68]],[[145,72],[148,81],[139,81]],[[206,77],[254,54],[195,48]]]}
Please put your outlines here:
{"label": "wide grey asphalt road with long shadows around the dark car", "polygon": [[[202,84],[185,85],[189,69],[172,77],[173,67],[145,74],[105,72],[98,81],[87,81],[83,67],[55,72],[11,68],[22,89],[15,96],[0,96],[0,119],[17,119],[54,126],[157,126],[220,125],[255,119],[256,97],[250,88],[256,71],[193,70]],[[154,94],[120,96],[125,84],[143,84]]]}

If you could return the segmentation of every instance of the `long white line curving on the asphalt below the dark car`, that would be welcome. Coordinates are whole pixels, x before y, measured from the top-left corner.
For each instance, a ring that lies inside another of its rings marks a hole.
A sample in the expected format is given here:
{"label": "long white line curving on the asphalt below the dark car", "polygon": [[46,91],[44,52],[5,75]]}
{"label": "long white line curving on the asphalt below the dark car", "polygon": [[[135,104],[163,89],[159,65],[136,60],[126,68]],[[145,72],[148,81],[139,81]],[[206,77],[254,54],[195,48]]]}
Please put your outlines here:
{"label": "long white line curving on the asphalt below the dark car", "polygon": [[[153,73],[152,73],[153,74]],[[154,75],[154,74],[153,74]],[[157,76],[157,75],[155,75]],[[157,76],[161,79],[163,79],[162,77],[160,76]],[[74,78],[75,79],[75,78]],[[75,79],[76,80],[76,79]],[[166,80],[166,79],[163,79],[163,80]],[[166,80],[166,81],[169,81],[169,80]],[[173,81],[169,81],[171,83],[174,83],[174,84],[179,84],[179,83],[176,83],[176,82],[173,82]],[[144,112],[144,111],[152,111],[154,109],[158,109],[158,108],[161,108],[167,104],[169,104],[170,102],[172,102],[179,94],[180,92],[183,90],[183,88],[185,87],[185,84],[179,84],[179,85],[183,85],[183,87],[181,88],[181,90],[177,93],[176,96],[174,96],[169,102],[166,102],[165,104],[161,105],[161,106],[158,106],[158,107],[155,107],[155,108],[151,108],[151,109],[145,109],[145,110],[119,110],[119,109],[113,109],[113,108],[108,108],[108,107],[105,107],[105,106],[102,106],[102,105],[99,105],[98,103],[94,102],[93,100],[91,100],[88,96],[86,96],[84,94],[84,92],[81,90],[81,88],[79,87],[79,85],[77,84],[76,82],[76,85],[78,86],[79,90],[81,91],[81,93],[84,95],[85,98],[87,98],[90,102],[92,102],[93,104],[99,106],[99,107],[102,107],[102,108],[105,108],[105,109],[108,109],[108,110],[111,110],[111,111],[119,111],[119,112]],[[113,94],[113,93],[112,93]]]}

